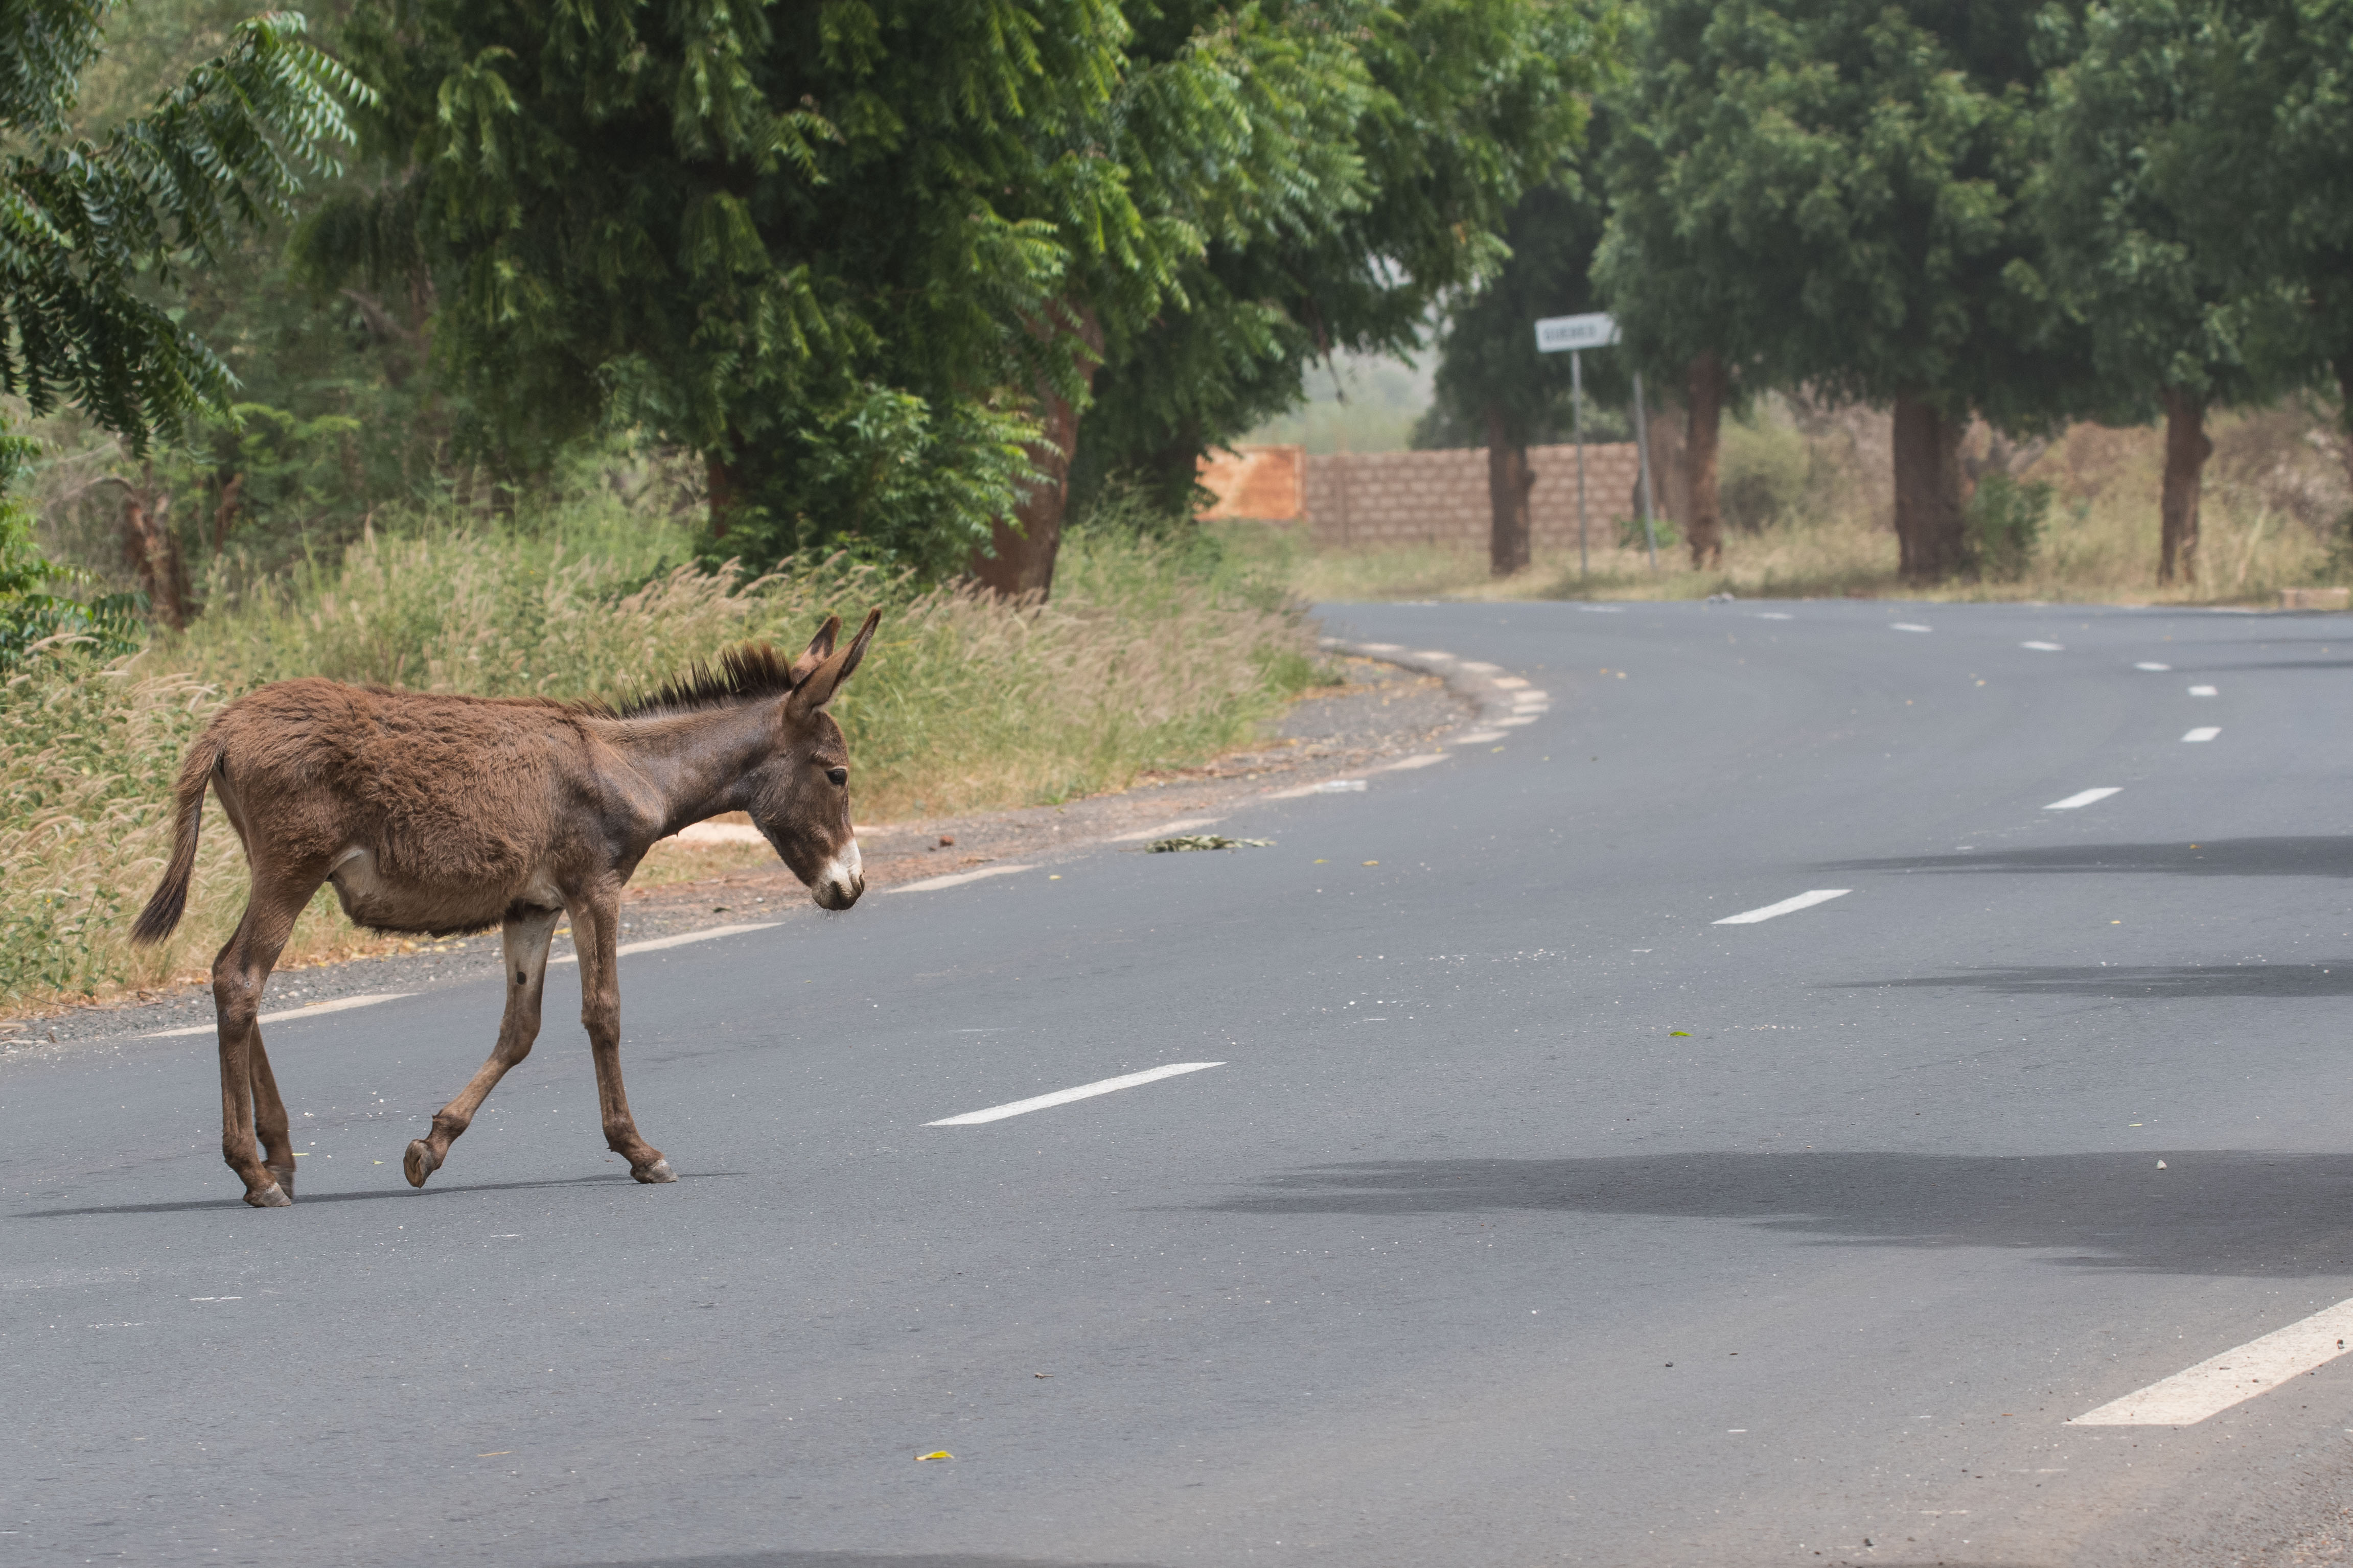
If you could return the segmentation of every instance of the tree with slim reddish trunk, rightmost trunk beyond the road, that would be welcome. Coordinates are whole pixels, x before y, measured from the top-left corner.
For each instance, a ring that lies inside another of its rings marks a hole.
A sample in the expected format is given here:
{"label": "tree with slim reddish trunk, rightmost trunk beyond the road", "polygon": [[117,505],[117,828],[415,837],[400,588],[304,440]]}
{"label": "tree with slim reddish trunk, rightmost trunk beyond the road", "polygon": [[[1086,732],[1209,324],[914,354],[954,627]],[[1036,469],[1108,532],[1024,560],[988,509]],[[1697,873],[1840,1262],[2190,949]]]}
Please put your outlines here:
{"label": "tree with slim reddish trunk, rightmost trunk beyond the road", "polygon": [[2240,266],[2233,160],[2209,148],[2219,106],[2200,61],[2224,42],[2212,16],[2179,0],[2089,9],[2052,82],[2033,181],[2052,284],[2089,327],[2108,400],[2165,411],[2160,583],[2198,581],[2207,409],[2273,397],[2294,374],[2266,353],[2292,341],[2292,296]]}

